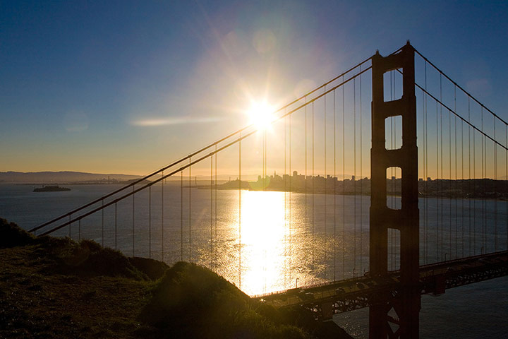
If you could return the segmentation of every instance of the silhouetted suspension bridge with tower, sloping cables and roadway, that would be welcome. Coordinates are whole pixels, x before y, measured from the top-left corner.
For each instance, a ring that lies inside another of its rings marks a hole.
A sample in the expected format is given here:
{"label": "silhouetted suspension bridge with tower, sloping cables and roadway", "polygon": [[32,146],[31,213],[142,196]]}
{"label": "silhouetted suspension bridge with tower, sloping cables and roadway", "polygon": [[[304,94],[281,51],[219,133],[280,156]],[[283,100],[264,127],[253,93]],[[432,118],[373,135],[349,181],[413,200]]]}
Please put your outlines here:
{"label": "silhouetted suspension bridge with tower, sloping cables and roadway", "polygon": [[269,127],[230,133],[30,232],[199,263],[243,288],[247,228],[265,213],[246,209],[247,189],[283,194],[284,277],[255,293],[275,307],[316,319],[369,307],[370,338],[418,338],[422,294],[507,275],[508,124],[409,42],[280,107]]}

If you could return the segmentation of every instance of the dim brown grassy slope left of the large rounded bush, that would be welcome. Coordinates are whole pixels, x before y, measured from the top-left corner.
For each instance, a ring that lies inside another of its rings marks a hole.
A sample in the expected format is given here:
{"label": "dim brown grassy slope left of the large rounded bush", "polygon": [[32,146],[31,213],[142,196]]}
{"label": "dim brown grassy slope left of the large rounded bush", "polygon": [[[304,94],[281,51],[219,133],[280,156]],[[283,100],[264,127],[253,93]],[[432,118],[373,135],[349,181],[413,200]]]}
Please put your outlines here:
{"label": "dim brown grassy slope left of the large rounded bush", "polygon": [[132,268],[83,273],[87,242],[29,242],[0,249],[0,338],[134,338],[152,281]]}

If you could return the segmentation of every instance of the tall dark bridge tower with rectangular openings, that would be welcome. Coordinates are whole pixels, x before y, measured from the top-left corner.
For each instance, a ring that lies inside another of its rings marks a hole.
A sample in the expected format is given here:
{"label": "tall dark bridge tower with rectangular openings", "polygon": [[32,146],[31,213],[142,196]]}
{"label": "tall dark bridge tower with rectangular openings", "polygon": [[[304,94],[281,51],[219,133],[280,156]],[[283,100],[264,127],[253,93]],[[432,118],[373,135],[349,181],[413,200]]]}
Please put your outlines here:
{"label": "tall dark bridge tower with rectangular openings", "polygon": [[[388,229],[400,231],[400,286],[370,300],[369,338],[418,338],[419,287],[418,148],[414,49],[409,42],[397,54],[372,58],[372,148],[370,150],[370,274],[388,273]],[[403,94],[385,102],[383,75],[403,73]],[[385,120],[402,117],[402,146],[385,147]],[[387,168],[401,169],[401,209],[387,207]],[[395,312],[395,314],[393,313]]]}

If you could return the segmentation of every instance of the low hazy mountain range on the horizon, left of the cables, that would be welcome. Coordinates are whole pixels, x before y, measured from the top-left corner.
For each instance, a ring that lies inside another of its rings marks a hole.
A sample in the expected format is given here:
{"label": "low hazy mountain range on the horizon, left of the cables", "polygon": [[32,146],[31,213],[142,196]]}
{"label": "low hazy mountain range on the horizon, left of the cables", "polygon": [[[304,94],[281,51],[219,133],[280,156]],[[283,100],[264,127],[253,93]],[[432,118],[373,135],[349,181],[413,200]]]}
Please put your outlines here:
{"label": "low hazy mountain range on the horizon, left of the cables", "polygon": [[84,172],[0,172],[3,184],[71,184],[78,182],[125,182],[139,179],[139,175],[98,174]]}

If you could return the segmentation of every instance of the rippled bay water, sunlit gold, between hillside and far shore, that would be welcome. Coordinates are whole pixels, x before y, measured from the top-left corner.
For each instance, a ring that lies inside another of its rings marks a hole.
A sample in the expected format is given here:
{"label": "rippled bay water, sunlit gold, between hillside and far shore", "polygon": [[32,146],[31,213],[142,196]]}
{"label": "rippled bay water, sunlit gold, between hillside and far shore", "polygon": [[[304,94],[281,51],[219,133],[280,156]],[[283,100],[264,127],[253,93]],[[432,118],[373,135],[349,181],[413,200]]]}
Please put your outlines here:
{"label": "rippled bay water, sunlit gold, between hillside and far shore", "polygon": [[[29,229],[119,187],[66,186],[71,191],[33,193],[33,186],[0,185],[0,217]],[[400,199],[389,198],[388,203],[397,208]],[[494,251],[495,239],[498,249],[504,249],[505,204],[421,199],[421,263]],[[369,206],[368,196],[189,190],[169,182],[164,196],[161,186],[153,186],[150,197],[148,191],[140,192],[55,235],[95,239],[127,255],[170,264],[191,260],[216,270],[249,295],[259,295],[362,275],[368,270]],[[389,241],[389,268],[396,269],[396,232]],[[422,338],[506,337],[507,283],[500,278],[440,297],[424,296]],[[334,320],[357,338],[366,338],[367,312]]]}

